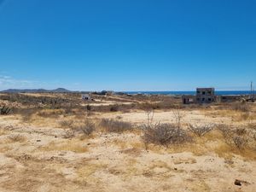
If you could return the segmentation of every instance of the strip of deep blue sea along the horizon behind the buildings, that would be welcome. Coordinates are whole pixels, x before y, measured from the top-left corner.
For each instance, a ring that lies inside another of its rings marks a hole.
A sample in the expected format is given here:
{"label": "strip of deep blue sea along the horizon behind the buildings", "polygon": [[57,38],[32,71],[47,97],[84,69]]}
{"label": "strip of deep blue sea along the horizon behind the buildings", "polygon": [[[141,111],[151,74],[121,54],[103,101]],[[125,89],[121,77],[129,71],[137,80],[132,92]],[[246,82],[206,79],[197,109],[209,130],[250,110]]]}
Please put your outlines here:
{"label": "strip of deep blue sea along the horizon behind the buildings", "polygon": [[[145,95],[195,95],[195,91],[125,91],[126,94],[145,94]],[[216,95],[250,95],[250,90],[216,90]],[[255,94],[255,93],[254,93]]]}

